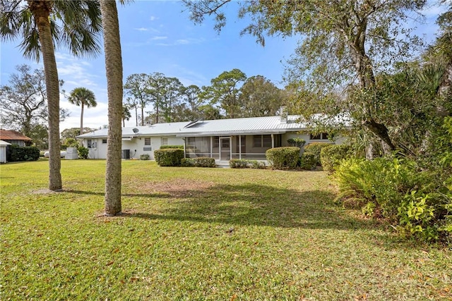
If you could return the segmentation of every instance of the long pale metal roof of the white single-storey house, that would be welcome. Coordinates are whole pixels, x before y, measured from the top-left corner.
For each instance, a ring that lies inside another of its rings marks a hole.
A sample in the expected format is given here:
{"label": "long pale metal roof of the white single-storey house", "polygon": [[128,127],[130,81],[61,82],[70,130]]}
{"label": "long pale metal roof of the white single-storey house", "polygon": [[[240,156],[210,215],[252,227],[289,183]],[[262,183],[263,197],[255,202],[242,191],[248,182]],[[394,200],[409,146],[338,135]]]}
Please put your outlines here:
{"label": "long pale metal roof of the white single-storey house", "polygon": [[[122,137],[143,136],[206,136],[206,135],[253,135],[263,133],[286,133],[307,130],[305,123],[297,122],[299,116],[281,116],[217,119],[210,121],[185,121],[177,123],[156,123],[149,126],[122,128]],[[107,137],[107,129],[95,130],[78,138]]]}

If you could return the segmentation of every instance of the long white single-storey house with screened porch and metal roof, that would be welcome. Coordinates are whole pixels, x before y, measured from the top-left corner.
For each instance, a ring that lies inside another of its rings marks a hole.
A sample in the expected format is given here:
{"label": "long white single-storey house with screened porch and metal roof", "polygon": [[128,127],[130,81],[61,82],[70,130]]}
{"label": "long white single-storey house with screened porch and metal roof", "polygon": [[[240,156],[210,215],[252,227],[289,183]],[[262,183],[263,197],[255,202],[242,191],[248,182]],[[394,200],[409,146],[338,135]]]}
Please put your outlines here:
{"label": "long white single-storey house with screened porch and metal roof", "polygon": [[[161,145],[184,145],[186,157],[209,156],[217,161],[230,159],[265,160],[266,150],[287,146],[287,140],[299,137],[311,142],[328,142],[326,133],[299,133],[307,126],[297,123],[298,116],[268,116],[254,118],[218,119],[178,123],[157,123],[149,126],[126,127],[122,130],[123,158],[139,158]],[[107,156],[107,129],[96,130],[77,137],[90,149],[90,158]]]}

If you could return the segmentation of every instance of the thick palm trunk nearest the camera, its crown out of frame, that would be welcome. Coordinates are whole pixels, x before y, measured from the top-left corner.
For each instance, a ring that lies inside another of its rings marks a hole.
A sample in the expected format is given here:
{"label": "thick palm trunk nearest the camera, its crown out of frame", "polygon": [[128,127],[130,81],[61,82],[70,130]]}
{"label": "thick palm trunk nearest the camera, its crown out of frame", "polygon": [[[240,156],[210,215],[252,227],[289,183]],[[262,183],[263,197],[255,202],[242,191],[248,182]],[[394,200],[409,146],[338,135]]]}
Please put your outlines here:
{"label": "thick palm trunk nearest the camera, its crown out of frame", "polygon": [[122,57],[116,1],[100,0],[104,28],[108,94],[108,145],[105,171],[105,215],[121,213]]}

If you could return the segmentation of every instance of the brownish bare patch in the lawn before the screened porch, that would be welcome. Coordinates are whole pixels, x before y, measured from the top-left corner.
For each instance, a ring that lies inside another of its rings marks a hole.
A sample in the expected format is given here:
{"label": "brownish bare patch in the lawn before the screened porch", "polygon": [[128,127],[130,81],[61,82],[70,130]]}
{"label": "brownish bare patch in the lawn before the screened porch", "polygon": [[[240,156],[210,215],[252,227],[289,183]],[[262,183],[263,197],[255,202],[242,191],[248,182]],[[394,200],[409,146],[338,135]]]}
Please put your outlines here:
{"label": "brownish bare patch in the lawn before the screened porch", "polygon": [[165,192],[173,197],[190,197],[194,191],[205,190],[215,185],[213,182],[178,178],[166,182],[136,185],[141,192]]}

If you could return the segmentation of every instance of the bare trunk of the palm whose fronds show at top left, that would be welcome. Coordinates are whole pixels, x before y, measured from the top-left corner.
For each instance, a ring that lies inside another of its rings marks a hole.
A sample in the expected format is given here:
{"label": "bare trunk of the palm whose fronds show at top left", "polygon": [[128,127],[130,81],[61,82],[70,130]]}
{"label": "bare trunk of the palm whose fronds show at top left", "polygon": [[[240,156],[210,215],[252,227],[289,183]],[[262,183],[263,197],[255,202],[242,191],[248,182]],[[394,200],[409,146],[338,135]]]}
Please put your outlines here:
{"label": "bare trunk of the palm whose fronds show at top left", "polygon": [[28,1],[40,36],[49,110],[49,190],[61,190],[59,141],[59,80],[49,15],[52,1]]}

